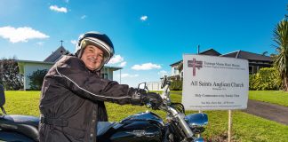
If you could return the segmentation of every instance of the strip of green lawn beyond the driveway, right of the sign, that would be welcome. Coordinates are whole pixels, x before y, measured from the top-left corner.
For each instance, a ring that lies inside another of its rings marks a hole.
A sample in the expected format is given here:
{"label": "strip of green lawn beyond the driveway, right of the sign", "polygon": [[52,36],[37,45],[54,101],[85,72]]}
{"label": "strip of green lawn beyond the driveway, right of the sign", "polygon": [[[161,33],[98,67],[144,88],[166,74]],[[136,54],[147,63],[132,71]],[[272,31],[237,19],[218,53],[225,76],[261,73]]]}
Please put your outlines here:
{"label": "strip of green lawn beyond the driveway, right of the sign", "polygon": [[288,106],[288,92],[284,91],[249,91],[249,99]]}

